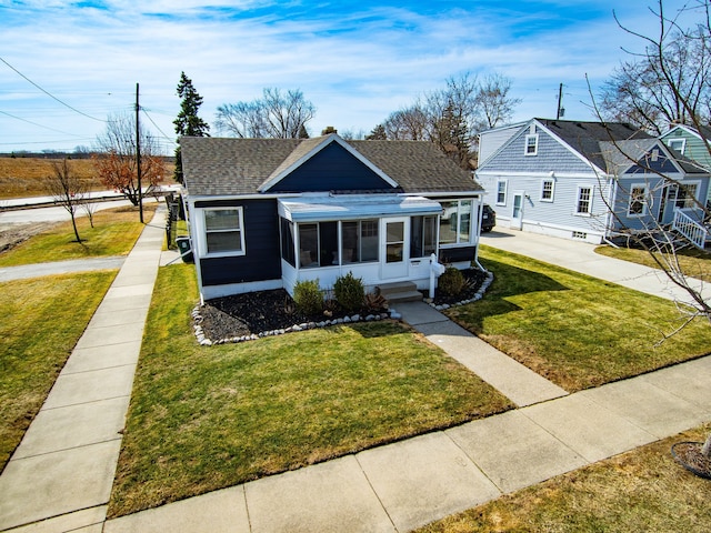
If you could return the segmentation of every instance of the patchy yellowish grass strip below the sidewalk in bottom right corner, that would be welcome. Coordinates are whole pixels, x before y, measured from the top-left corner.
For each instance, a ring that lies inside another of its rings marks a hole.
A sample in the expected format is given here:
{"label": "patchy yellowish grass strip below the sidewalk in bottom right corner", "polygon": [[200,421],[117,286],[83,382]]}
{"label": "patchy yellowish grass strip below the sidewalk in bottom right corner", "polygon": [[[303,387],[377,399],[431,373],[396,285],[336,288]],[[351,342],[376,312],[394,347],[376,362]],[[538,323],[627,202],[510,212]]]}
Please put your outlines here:
{"label": "patchy yellowish grass strip below the sidewalk in bottom right corner", "polygon": [[[704,441],[711,426],[632,450],[430,524],[419,533],[708,531],[709,481],[670,447]],[[705,525],[703,525],[705,524]]]}

